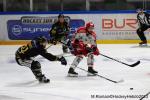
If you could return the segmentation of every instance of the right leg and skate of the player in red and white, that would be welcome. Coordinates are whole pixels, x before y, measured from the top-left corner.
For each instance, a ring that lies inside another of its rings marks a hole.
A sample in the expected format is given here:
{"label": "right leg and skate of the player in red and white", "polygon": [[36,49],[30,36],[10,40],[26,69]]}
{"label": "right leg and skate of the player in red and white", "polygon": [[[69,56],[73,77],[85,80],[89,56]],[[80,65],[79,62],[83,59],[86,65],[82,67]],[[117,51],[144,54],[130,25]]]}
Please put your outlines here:
{"label": "right leg and skate of the player in red and white", "polygon": [[[98,73],[97,71],[95,71],[93,69],[93,65],[94,65],[94,55],[92,53],[88,54],[88,58],[87,58],[87,65],[88,65],[88,75],[93,75]],[[91,74],[92,73],[92,74]]]}

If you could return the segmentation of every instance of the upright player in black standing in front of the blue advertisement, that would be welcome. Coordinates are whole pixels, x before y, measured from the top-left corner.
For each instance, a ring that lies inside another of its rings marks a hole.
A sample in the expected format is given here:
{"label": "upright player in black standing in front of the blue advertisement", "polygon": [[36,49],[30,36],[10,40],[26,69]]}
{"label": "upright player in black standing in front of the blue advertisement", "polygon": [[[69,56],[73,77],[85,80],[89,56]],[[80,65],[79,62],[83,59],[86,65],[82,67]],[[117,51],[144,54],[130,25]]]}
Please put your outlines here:
{"label": "upright player in black standing in front of the blue advertisement", "polygon": [[[51,43],[54,45],[57,44],[58,41],[64,42],[67,40],[67,37],[70,32],[70,27],[68,23],[65,21],[63,14],[58,15],[58,21],[52,25],[52,28],[49,32],[51,39]],[[62,45],[63,53],[68,52],[68,47],[66,45]]]}

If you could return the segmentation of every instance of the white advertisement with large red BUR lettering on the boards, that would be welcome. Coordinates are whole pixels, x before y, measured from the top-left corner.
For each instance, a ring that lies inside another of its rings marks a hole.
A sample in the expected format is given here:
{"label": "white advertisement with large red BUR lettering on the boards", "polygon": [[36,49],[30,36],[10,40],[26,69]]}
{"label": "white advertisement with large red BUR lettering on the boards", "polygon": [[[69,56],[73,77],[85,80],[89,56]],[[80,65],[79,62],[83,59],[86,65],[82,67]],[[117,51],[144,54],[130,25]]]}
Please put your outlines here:
{"label": "white advertisement with large red BUR lettering on the boards", "polygon": [[101,31],[110,39],[138,39],[136,14],[102,14]]}

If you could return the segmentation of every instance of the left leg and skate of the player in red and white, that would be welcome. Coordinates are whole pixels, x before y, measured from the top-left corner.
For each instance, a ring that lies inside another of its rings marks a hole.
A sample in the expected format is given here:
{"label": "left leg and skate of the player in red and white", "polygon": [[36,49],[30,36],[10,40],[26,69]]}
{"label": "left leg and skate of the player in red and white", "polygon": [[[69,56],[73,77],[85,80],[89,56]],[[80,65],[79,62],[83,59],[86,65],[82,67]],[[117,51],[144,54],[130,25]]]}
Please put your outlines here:
{"label": "left leg and skate of the player in red and white", "polygon": [[83,59],[82,56],[76,56],[76,58],[73,60],[73,63],[69,68],[68,76],[78,76],[78,73],[75,72],[75,68],[78,66],[78,64],[81,62],[82,59]]}

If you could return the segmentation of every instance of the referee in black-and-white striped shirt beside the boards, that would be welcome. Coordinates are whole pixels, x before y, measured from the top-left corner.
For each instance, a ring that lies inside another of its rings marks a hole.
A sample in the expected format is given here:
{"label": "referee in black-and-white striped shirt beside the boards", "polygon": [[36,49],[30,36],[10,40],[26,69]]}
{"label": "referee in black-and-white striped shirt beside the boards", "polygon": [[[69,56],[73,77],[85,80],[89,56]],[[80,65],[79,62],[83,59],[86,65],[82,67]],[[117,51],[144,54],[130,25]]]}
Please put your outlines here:
{"label": "referee in black-and-white striped shirt beside the boards", "polygon": [[139,28],[137,29],[137,34],[140,37],[141,41],[139,43],[140,46],[146,46],[147,45],[147,39],[144,35],[144,31],[146,31],[148,28],[150,28],[150,14],[144,12],[143,9],[137,10],[137,20],[139,23]]}

